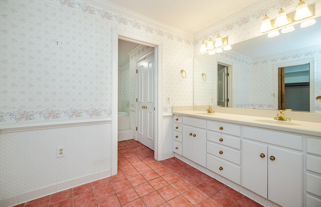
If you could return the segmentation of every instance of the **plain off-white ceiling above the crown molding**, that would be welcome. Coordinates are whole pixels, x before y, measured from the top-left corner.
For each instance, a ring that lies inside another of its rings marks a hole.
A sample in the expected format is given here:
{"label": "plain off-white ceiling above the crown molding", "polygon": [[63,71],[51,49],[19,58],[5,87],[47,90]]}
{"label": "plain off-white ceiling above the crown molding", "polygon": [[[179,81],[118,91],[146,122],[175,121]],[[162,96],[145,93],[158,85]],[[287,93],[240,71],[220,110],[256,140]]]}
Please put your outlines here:
{"label": "plain off-white ceiling above the crown molding", "polygon": [[260,0],[108,0],[189,34],[195,34]]}

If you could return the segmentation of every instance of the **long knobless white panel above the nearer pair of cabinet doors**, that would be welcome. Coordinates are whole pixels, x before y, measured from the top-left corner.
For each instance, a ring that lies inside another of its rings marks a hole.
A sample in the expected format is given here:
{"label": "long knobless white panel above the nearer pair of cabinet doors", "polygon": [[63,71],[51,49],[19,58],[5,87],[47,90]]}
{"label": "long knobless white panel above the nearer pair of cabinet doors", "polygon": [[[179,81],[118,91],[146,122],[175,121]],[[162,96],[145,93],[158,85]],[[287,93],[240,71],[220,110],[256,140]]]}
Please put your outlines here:
{"label": "long knobless white panel above the nearer pair of cabinet doors", "polygon": [[243,138],[303,151],[303,138],[298,135],[243,127]]}

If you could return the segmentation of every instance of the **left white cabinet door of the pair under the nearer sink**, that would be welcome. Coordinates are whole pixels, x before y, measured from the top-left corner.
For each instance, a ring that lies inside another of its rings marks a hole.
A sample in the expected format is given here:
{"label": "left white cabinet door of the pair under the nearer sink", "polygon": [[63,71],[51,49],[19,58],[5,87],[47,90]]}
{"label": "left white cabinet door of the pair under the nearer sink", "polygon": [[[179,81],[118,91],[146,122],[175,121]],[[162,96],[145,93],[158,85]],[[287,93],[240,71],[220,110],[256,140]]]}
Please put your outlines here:
{"label": "left white cabinet door of the pair under the nearer sink", "polygon": [[243,140],[242,185],[267,198],[267,146]]}

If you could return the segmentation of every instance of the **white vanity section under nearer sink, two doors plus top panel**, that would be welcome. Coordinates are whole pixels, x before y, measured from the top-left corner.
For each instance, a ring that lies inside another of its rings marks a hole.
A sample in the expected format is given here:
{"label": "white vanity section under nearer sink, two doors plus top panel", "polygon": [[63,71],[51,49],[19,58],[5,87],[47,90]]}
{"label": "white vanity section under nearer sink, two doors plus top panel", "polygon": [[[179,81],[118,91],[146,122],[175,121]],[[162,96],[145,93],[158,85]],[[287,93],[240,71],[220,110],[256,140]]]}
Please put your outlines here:
{"label": "white vanity section under nearer sink, two doors plus top panel", "polygon": [[243,127],[242,186],[282,206],[303,205],[303,138]]}

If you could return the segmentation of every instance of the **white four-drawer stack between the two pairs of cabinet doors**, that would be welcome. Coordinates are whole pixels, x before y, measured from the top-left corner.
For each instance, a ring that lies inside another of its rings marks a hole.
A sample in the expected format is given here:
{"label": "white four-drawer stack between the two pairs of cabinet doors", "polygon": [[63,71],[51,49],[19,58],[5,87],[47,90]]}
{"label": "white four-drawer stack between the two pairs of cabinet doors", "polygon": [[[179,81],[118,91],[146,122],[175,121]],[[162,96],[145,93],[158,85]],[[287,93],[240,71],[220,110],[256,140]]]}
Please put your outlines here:
{"label": "white four-drawer stack between the two pairs of cabinet doors", "polygon": [[241,184],[241,127],[208,121],[207,130],[206,168]]}

